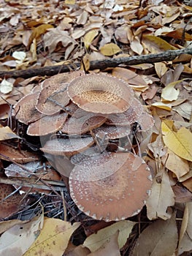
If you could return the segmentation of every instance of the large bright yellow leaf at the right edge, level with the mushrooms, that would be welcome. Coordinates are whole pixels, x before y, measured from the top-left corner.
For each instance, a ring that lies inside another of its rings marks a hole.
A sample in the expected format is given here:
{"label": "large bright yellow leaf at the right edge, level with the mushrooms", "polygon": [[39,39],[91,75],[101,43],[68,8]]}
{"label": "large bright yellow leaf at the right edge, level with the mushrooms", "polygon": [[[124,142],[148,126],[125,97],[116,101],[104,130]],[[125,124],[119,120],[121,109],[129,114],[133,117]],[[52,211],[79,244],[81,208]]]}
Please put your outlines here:
{"label": "large bright yellow leaf at the right edge, level with the mushrooms", "polygon": [[177,156],[192,161],[192,133],[185,127],[174,132],[169,120],[162,122],[161,129],[165,145]]}

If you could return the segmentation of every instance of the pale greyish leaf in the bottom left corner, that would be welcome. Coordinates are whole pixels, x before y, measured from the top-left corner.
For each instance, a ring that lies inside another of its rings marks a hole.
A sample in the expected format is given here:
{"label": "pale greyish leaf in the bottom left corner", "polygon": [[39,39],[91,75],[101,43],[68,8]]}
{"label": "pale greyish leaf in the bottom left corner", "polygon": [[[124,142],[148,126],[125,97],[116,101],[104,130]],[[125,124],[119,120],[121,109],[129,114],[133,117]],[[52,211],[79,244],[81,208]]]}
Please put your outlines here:
{"label": "pale greyish leaf in the bottom left corner", "polygon": [[39,236],[44,216],[34,217],[30,222],[19,223],[5,231],[0,238],[0,255],[21,256]]}

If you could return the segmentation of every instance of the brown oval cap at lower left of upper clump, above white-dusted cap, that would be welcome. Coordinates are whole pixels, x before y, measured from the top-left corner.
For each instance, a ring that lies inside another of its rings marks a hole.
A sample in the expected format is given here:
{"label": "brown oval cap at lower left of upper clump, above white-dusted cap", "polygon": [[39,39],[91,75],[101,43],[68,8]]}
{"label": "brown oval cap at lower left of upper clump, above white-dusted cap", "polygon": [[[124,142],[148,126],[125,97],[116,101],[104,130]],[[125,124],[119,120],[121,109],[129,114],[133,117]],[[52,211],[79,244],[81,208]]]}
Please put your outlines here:
{"label": "brown oval cap at lower left of upper clump, above white-dusted cap", "polygon": [[29,124],[27,134],[31,136],[48,135],[57,132],[66,121],[67,114],[60,113],[53,116],[43,116],[36,122]]}

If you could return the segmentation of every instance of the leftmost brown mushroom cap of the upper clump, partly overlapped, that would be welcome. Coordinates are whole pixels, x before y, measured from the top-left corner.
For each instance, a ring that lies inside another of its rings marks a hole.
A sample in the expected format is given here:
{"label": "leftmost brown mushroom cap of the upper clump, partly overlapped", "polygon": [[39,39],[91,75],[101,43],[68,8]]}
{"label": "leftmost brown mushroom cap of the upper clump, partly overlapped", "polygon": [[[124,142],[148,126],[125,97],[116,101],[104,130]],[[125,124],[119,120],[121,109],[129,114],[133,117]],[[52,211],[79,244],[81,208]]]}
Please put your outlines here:
{"label": "leftmost brown mushroom cap of the upper clump, partly overlapped", "polygon": [[14,106],[13,115],[23,124],[30,124],[42,117],[42,113],[35,108],[38,93],[27,94]]}

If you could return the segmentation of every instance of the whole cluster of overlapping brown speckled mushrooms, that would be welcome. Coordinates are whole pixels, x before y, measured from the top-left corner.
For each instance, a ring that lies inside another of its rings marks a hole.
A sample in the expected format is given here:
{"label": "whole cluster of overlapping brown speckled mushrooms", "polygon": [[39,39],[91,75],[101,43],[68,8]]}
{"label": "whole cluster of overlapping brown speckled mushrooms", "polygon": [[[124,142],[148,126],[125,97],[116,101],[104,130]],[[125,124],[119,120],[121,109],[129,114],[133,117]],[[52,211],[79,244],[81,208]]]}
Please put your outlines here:
{"label": "whole cluster of overlapping brown speckled mushrooms", "polygon": [[151,187],[150,170],[141,157],[119,150],[118,143],[153,127],[153,117],[128,83],[104,74],[55,75],[20,99],[15,113],[28,125],[28,135],[50,135],[42,140],[45,155],[70,161],[69,190],[81,211],[105,221],[141,211]]}

